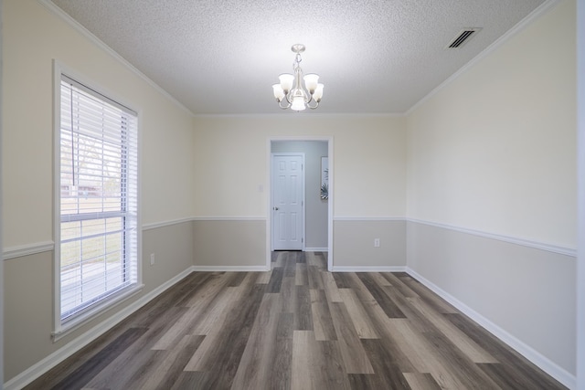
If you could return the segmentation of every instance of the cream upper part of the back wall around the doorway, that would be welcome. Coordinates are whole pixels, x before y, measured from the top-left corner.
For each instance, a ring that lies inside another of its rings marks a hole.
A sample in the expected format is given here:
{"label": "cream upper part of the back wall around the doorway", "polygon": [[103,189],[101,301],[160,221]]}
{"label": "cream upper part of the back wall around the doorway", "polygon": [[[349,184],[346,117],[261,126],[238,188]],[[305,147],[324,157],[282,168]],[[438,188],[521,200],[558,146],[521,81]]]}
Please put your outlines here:
{"label": "cream upper part of the back wall around the doorway", "polygon": [[[196,216],[266,217],[271,137],[333,136],[335,216],[406,213],[406,125],[399,117],[312,114],[195,120]],[[330,156],[331,164],[331,156]]]}

